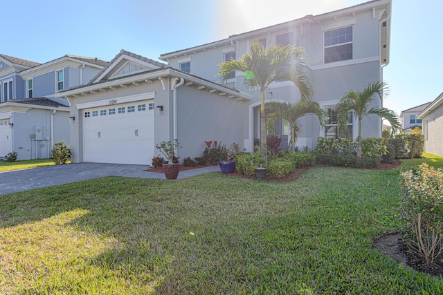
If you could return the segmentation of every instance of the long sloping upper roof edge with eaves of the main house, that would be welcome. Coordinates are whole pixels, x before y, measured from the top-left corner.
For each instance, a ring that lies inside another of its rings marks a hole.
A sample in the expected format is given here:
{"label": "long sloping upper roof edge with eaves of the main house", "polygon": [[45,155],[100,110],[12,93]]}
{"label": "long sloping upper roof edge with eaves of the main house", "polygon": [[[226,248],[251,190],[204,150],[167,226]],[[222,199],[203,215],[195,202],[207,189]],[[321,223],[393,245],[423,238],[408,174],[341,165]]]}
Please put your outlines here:
{"label": "long sloping upper roof edge with eaves of the main house", "polygon": [[350,7],[347,7],[347,8],[342,8],[340,10],[334,10],[333,12],[326,12],[326,13],[323,13],[321,15],[316,15],[316,16],[314,16],[314,15],[306,15],[305,17],[301,17],[299,19],[293,19],[291,21],[286,21],[284,23],[278,23],[278,24],[275,24],[275,25],[272,25],[272,26],[267,26],[267,27],[264,27],[264,28],[259,28],[259,29],[256,29],[256,30],[251,30],[251,31],[248,31],[248,32],[243,32],[243,33],[236,34],[236,35],[230,35],[226,39],[221,39],[221,40],[218,40],[218,41],[213,41],[213,42],[210,42],[210,43],[207,43],[207,44],[203,44],[203,45],[199,45],[199,46],[193,46],[193,47],[186,48],[186,49],[174,50],[174,51],[172,51],[170,53],[163,53],[163,54],[160,55],[159,59],[167,60],[170,57],[174,57],[174,55],[178,55],[179,53],[180,53],[180,55],[182,53],[188,53],[188,52],[195,53],[197,51],[205,50],[206,48],[215,48],[217,46],[226,46],[227,44],[230,44],[231,42],[234,42],[234,41],[239,40],[239,39],[246,38],[246,37],[248,37],[248,35],[251,35],[251,34],[253,35],[253,34],[257,34],[257,33],[262,33],[263,31],[273,30],[273,28],[280,28],[280,27],[288,28],[289,26],[296,26],[296,25],[298,25],[300,23],[306,23],[306,22],[311,23],[311,22],[314,21],[314,18],[316,18],[316,21],[319,21],[318,19],[323,19],[325,17],[328,17],[328,15],[331,15],[331,17],[335,17],[333,14],[346,12],[346,10],[356,10],[356,8],[359,8],[359,7],[362,7],[361,9],[364,9],[363,6],[367,6],[367,5],[371,5],[371,4],[378,4],[377,2],[383,2],[383,1],[385,1],[385,0],[372,0],[372,1],[367,1],[367,2],[361,3],[361,4],[357,4],[355,6],[350,6]]}

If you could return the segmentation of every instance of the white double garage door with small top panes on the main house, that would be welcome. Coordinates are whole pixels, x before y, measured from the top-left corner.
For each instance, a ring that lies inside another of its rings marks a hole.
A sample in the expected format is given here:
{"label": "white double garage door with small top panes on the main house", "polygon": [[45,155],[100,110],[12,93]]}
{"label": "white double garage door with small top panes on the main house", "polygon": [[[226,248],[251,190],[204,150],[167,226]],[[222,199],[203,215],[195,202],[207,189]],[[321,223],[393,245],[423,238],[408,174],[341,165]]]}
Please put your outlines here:
{"label": "white double garage door with small top panes on the main house", "polygon": [[153,155],[153,100],[84,109],[84,162],[151,164]]}

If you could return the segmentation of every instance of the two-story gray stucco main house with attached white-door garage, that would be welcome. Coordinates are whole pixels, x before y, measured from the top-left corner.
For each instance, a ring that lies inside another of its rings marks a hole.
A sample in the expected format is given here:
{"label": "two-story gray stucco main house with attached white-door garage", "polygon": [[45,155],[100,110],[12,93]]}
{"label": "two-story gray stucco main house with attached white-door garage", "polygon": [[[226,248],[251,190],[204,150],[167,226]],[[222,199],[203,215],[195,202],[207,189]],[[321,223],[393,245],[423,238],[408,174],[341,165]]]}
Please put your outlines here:
{"label": "two-story gray stucco main house with attached white-door garage", "polygon": [[[382,80],[389,63],[390,16],[390,0],[368,1],[165,53],[160,59],[168,66],[122,50],[90,84],[57,94],[69,99],[76,118],[73,162],[150,164],[159,154],[155,144],[173,138],[183,145],[181,160],[201,155],[205,140],[236,142],[252,151],[260,137],[260,93],[246,90],[244,73],[233,73],[225,85],[217,74],[221,61],[240,57],[255,40],[306,50],[307,75],[327,125],[320,129],[317,118],[306,115],[296,144],[314,149],[320,136],[355,140],[359,126],[353,118],[347,131],[338,132],[336,104],[347,91]],[[276,82],[266,95],[270,99],[296,102],[300,92],[291,82]],[[372,106],[383,102],[376,99]],[[287,124],[277,125],[275,132],[287,136]],[[381,137],[381,131],[379,117],[363,119],[363,137]]]}

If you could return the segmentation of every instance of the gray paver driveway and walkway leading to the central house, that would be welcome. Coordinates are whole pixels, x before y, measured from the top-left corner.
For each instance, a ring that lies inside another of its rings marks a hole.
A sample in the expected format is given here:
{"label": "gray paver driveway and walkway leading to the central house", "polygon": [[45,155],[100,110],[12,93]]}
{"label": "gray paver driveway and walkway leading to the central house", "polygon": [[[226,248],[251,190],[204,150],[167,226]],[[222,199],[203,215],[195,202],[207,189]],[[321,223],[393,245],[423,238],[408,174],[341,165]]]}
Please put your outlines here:
{"label": "gray paver driveway and walkway leading to the central house", "polygon": [[[105,176],[166,179],[163,173],[144,171],[149,168],[145,165],[71,163],[0,172],[0,195]],[[218,166],[210,166],[181,171],[178,179],[219,170]]]}

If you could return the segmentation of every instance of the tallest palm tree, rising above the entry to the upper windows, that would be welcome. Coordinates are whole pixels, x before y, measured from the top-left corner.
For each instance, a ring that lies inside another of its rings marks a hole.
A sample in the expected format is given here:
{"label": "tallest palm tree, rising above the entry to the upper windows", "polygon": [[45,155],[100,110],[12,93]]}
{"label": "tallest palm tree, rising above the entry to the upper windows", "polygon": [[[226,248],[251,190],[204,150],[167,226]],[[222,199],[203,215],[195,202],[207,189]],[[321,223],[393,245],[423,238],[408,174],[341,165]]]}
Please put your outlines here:
{"label": "tallest palm tree, rising above the entry to the upper windows", "polygon": [[219,66],[221,83],[228,80],[230,73],[238,70],[244,73],[246,88],[260,90],[260,149],[262,158],[267,162],[264,92],[272,82],[286,79],[298,87],[303,101],[312,99],[314,93],[309,78],[305,74],[304,49],[290,44],[264,47],[260,42],[253,41],[248,53],[237,60],[224,61]]}

